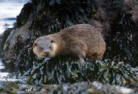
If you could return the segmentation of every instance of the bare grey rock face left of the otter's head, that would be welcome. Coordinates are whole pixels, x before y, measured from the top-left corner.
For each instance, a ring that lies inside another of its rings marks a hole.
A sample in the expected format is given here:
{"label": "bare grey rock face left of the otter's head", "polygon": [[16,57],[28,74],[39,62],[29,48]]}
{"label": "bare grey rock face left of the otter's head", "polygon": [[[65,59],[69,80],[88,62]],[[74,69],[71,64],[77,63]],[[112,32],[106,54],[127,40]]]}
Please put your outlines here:
{"label": "bare grey rock face left of the otter's head", "polygon": [[25,41],[29,39],[30,37],[29,26],[31,25],[31,23],[32,21],[29,20],[21,28],[15,28],[10,32],[3,47],[5,60],[17,58],[15,54],[16,53],[15,46],[17,46],[17,42],[21,43],[21,45],[19,46],[23,46],[22,43],[25,43]]}

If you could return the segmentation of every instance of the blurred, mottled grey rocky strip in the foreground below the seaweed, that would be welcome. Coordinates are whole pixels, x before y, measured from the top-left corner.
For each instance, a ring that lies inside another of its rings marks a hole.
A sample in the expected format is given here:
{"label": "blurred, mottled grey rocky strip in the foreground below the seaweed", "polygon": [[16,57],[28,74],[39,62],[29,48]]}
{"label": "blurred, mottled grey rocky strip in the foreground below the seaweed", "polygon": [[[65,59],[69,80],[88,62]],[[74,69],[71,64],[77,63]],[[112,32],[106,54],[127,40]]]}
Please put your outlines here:
{"label": "blurred, mottled grey rocky strip in the foreground below the seaweed", "polygon": [[3,94],[137,94],[136,89],[94,82],[74,84],[28,85],[7,83],[0,87]]}

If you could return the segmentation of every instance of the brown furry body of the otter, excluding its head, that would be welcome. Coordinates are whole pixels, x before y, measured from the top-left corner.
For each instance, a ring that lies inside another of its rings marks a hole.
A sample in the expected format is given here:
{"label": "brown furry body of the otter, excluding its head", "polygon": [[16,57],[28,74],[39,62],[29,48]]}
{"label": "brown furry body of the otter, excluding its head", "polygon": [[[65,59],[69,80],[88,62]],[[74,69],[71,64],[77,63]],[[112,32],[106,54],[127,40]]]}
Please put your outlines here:
{"label": "brown furry body of the otter, excluding its head", "polygon": [[69,54],[93,61],[102,59],[106,50],[101,29],[89,24],[73,25],[42,37],[55,40],[55,56]]}

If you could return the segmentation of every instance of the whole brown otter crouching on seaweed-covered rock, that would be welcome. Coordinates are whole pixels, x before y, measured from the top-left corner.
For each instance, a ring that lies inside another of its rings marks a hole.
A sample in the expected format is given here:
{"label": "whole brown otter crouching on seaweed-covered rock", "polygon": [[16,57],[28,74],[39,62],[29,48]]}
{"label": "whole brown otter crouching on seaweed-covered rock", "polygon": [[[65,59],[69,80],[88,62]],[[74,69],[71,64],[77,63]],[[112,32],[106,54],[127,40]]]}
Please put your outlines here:
{"label": "whole brown otter crouching on seaweed-covered rock", "polygon": [[82,63],[85,59],[100,60],[106,50],[102,29],[90,24],[77,24],[58,33],[41,36],[34,41],[33,52],[41,58],[59,55],[77,56]]}

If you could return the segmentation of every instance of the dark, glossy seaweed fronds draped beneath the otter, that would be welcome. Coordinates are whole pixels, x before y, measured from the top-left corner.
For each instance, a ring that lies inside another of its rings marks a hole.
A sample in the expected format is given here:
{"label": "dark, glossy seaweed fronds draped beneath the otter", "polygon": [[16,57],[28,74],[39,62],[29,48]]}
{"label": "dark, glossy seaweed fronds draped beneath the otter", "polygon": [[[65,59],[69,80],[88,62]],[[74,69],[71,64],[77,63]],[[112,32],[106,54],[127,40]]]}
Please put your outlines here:
{"label": "dark, glossy seaweed fronds draped beneath the otter", "polygon": [[[64,62],[63,62],[64,61]],[[111,60],[86,62],[84,66],[72,58],[55,58],[49,62],[33,63],[26,72],[28,83],[59,84],[79,81],[100,81],[102,83],[128,85],[136,82],[136,70],[124,62]]]}

